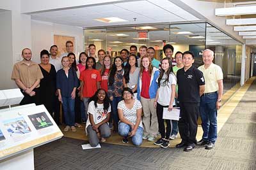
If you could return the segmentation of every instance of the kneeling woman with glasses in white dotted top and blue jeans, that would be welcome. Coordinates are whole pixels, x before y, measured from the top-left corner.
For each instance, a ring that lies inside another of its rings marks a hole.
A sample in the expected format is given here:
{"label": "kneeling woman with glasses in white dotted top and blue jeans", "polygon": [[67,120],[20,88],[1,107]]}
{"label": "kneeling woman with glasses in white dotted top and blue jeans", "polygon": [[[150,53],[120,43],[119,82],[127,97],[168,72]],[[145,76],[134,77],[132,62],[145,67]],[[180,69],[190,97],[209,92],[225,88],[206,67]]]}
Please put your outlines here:
{"label": "kneeling woman with glasses in white dotted top and blue jeans", "polygon": [[129,87],[124,88],[124,100],[118,103],[118,132],[124,136],[122,142],[128,143],[128,137],[132,138],[133,145],[139,146],[142,143],[143,126],[141,122],[142,106],[140,101],[132,99],[133,92]]}

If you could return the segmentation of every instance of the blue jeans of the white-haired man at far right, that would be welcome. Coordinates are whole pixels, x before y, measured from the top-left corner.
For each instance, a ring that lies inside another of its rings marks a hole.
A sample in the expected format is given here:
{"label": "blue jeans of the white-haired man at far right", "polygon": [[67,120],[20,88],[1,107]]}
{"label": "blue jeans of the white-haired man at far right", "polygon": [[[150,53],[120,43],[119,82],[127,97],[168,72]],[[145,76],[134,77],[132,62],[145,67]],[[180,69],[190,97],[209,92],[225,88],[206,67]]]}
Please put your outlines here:
{"label": "blue jeans of the white-haired man at far right", "polygon": [[200,98],[200,115],[204,131],[203,140],[215,143],[217,139],[217,110],[218,93],[203,94]]}

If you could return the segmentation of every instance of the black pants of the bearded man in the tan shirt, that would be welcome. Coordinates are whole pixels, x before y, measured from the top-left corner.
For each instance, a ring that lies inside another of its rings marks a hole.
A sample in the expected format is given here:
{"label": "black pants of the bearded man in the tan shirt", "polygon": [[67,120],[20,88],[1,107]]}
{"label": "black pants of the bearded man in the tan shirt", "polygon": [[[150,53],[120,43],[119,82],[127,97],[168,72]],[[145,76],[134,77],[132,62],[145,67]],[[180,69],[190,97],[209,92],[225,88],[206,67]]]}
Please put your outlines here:
{"label": "black pants of the bearded man in the tan shirt", "polygon": [[35,103],[36,105],[41,104],[40,103],[40,92],[39,88],[35,88],[33,91],[36,93],[35,96],[29,96],[25,92],[23,92],[22,89],[20,89],[22,94],[24,95],[23,99],[20,101],[20,105],[25,105],[25,104],[31,104]]}

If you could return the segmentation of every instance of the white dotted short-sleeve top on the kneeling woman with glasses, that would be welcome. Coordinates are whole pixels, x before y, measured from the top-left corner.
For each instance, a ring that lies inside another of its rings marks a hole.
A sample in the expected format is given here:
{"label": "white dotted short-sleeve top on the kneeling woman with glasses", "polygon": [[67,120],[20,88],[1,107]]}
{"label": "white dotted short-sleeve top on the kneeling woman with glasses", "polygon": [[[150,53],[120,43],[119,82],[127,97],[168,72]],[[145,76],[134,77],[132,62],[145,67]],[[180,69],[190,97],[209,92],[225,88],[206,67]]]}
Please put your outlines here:
{"label": "white dotted short-sleeve top on the kneeling woman with glasses", "polygon": [[[132,122],[132,124],[136,124],[136,120],[137,120],[137,110],[139,110],[140,108],[142,108],[140,101],[138,101],[137,99],[135,99],[133,107],[131,108],[131,110],[129,108],[127,108],[125,106],[124,100],[120,101],[118,103],[117,108],[119,110],[123,111],[124,117],[129,121]],[[140,119],[140,127],[143,127],[141,119]]]}

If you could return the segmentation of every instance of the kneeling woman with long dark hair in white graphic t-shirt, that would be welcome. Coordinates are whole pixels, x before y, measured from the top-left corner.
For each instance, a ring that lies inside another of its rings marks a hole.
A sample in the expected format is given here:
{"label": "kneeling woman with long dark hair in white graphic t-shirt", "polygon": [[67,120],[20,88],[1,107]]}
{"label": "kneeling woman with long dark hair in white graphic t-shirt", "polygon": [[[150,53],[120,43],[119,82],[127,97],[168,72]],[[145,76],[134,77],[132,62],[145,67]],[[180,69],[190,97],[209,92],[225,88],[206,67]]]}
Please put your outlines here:
{"label": "kneeling woman with long dark hair in white graphic t-shirt", "polygon": [[86,122],[86,132],[89,143],[92,147],[99,144],[100,140],[105,141],[109,138],[111,131],[108,126],[111,106],[109,98],[104,89],[99,89],[90,98],[88,105],[89,118]]}

